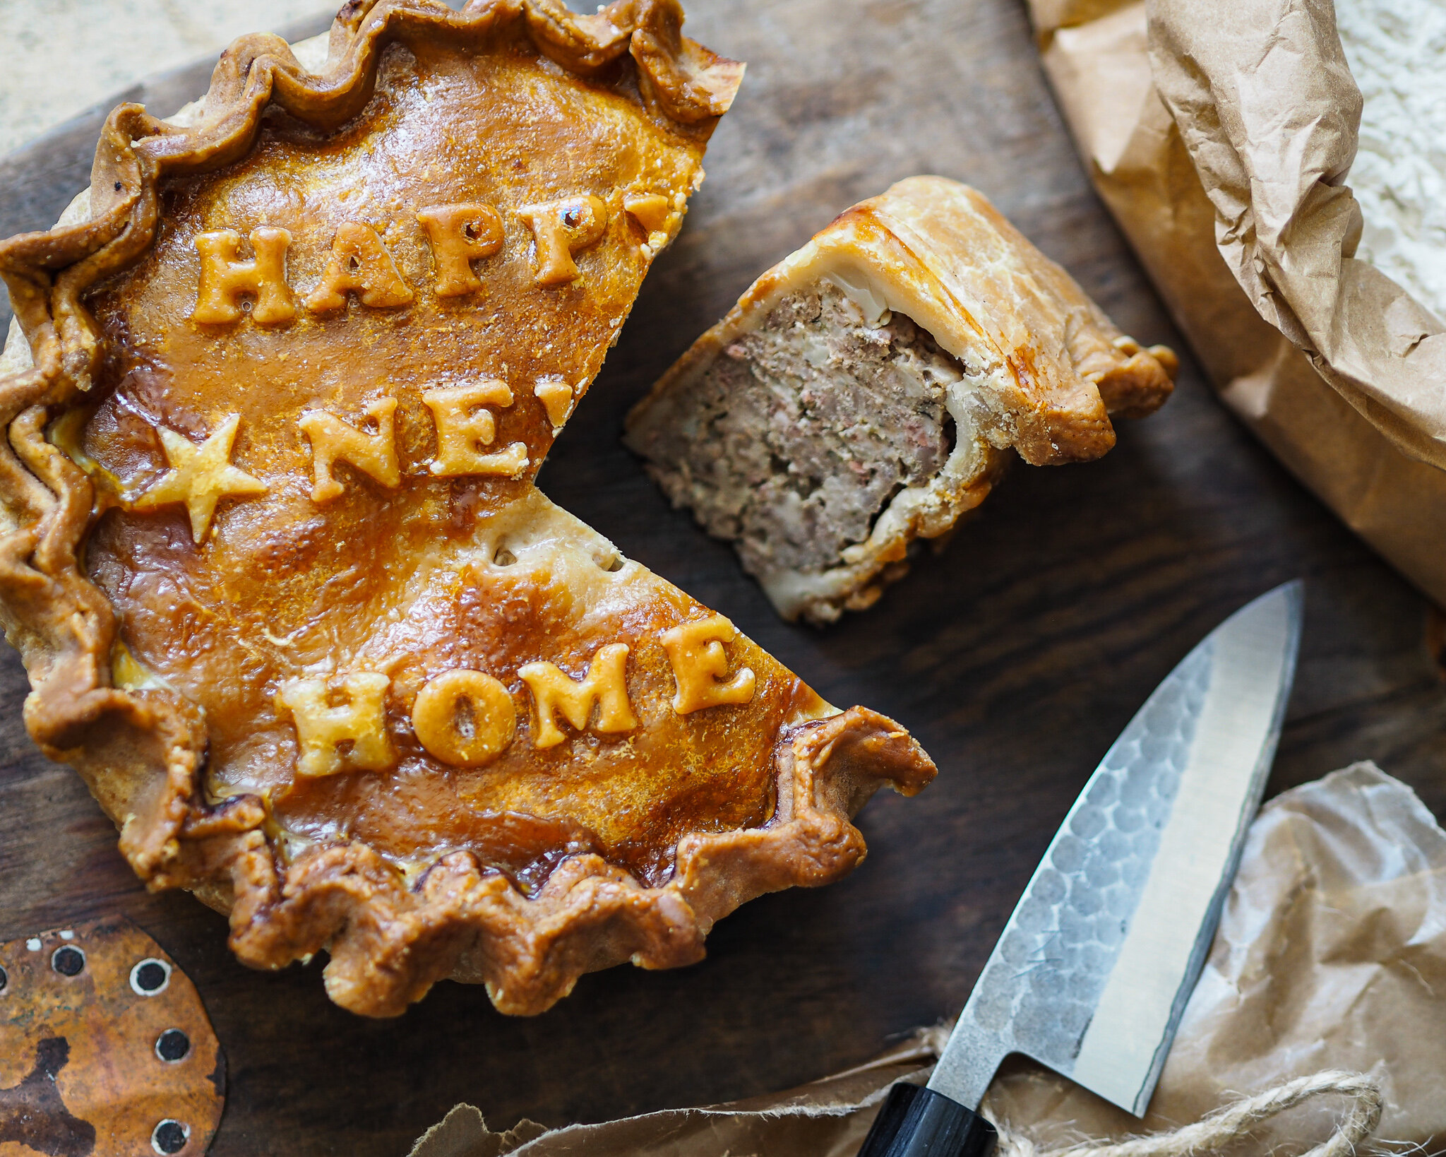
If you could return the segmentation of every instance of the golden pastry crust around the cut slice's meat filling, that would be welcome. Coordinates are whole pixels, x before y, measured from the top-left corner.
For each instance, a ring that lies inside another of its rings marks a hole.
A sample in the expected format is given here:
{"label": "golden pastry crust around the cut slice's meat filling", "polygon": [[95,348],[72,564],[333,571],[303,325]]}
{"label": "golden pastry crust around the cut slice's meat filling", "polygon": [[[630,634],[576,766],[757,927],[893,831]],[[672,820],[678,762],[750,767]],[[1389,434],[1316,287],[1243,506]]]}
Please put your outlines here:
{"label": "golden pastry crust around the cut slice's meat filling", "polygon": [[[787,295],[826,282],[908,317],[969,366],[969,408],[951,414],[959,437],[946,466],[891,499],[863,541],[807,573],[752,568],[788,619],[831,622],[844,609],[872,606],[908,570],[915,538],[950,532],[985,500],[1009,447],[1034,466],[1098,458],[1115,445],[1111,418],[1145,417],[1174,388],[1174,353],[1141,349],[1122,334],[980,192],[943,176],[910,176],[844,210],[765,270],[629,414],[628,444],[674,505],[694,506],[704,525],[711,483],[672,461],[687,457],[680,447],[696,437],[684,428],[700,425],[690,409],[700,382]],[[709,438],[720,441],[719,431]]]}

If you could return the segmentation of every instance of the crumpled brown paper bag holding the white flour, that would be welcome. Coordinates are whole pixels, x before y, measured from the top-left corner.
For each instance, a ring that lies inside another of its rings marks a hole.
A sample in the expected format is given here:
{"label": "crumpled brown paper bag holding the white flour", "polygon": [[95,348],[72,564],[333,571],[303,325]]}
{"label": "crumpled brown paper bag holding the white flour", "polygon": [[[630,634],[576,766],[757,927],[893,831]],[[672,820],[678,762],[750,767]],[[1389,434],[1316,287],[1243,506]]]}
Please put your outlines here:
{"label": "crumpled brown paper bag holding the white flour", "polygon": [[1361,95],[1330,0],[1030,12],[1096,189],[1226,404],[1446,605],[1446,334],[1351,256]]}

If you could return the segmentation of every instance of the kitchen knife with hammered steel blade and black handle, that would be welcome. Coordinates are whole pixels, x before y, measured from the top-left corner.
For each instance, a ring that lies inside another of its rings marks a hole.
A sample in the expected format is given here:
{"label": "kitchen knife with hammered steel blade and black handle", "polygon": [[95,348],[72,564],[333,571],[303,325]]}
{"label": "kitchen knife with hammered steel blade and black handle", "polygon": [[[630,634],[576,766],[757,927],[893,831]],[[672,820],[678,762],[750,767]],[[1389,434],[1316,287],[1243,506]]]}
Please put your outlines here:
{"label": "kitchen knife with hammered steel blade and black handle", "polygon": [[1205,965],[1280,740],[1303,594],[1210,632],[1084,784],[989,955],[927,1088],[895,1085],[859,1157],[985,1157],[976,1112],[1022,1053],[1144,1115]]}

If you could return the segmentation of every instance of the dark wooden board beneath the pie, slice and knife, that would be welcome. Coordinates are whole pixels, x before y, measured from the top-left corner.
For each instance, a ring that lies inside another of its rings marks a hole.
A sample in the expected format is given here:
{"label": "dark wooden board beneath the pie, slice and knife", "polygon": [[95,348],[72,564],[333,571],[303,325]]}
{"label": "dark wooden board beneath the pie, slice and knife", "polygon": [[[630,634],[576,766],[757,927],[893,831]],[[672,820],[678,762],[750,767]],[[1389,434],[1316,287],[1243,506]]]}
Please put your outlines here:
{"label": "dark wooden board beneath the pie, slice and knife", "polygon": [[[80,780],[26,739],[25,675],[6,651],[0,940],[117,911],[155,936],[230,1059],[217,1157],[403,1154],[457,1101],[508,1127],[748,1096],[951,1014],[1144,697],[1228,612],[1296,576],[1306,636],[1271,791],[1372,758],[1446,813],[1446,687],[1427,605],[1235,424],[1189,357],[1174,399],[1125,425],[1106,458],[1017,466],[943,552],[829,631],[781,623],[732,551],[667,508],[619,445],[628,406],[758,272],[910,174],[977,185],[1126,331],[1178,349],[1090,192],[1015,0],[690,10],[688,32],[749,61],[748,78],[681,239],[541,484],[831,701],[907,723],[940,777],[915,800],[865,808],[870,855],[850,879],[746,905],[696,968],[596,973],[534,1020],[444,983],[398,1020],[364,1021],[328,1004],[318,965],[250,972],[227,953],[220,915],[145,892]],[[179,104],[178,84],[155,91]],[[77,130],[61,137],[0,162],[0,231],[48,224],[84,182]]]}

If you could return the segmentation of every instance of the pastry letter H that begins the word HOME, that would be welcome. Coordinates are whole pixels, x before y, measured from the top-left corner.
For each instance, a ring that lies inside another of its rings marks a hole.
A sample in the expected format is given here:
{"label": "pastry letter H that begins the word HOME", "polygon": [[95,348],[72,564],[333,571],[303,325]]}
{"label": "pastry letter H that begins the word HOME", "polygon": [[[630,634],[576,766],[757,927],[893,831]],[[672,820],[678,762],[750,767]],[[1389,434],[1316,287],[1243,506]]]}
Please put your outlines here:
{"label": "pastry letter H that begins the word HOME", "polygon": [[[386,735],[382,700],[390,680],[375,671],[353,671],[341,681],[350,700],[340,707],[327,706],[327,683],[320,678],[294,678],[276,693],[276,712],[291,712],[296,725],[301,759],[296,775],[315,780],[338,771],[386,771],[396,762]],[[343,755],[338,745],[350,743]]]}

